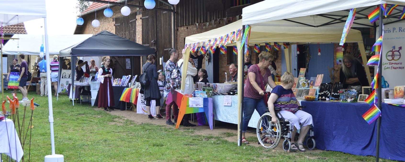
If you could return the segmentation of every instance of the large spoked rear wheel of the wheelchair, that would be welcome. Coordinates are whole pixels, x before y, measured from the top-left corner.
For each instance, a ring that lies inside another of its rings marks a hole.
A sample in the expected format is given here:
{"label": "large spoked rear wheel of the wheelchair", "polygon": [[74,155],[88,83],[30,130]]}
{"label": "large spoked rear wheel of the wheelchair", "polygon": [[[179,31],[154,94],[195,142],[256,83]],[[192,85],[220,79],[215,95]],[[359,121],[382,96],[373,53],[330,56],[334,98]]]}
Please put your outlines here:
{"label": "large spoked rear wheel of the wheelchair", "polygon": [[266,113],[260,117],[256,127],[258,144],[264,148],[274,149],[277,147],[281,138],[281,125],[279,122],[271,122],[271,114]]}

